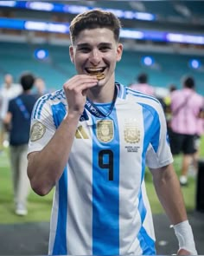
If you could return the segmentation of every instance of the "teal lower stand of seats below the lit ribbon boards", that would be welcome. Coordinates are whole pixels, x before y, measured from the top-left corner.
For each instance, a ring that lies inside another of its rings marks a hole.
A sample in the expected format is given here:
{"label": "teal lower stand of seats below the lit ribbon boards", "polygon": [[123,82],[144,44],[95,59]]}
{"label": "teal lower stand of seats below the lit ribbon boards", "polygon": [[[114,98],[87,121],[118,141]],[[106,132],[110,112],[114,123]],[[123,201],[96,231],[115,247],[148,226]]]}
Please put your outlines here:
{"label": "teal lower stand of seats below the lit ribbon boards", "polygon": [[[48,50],[47,59],[35,58],[34,51],[38,48]],[[144,66],[141,61],[143,56],[151,56],[154,59],[153,65]],[[189,60],[194,57],[196,56],[124,50],[122,61],[118,62],[116,79],[128,85],[134,82],[138,73],[145,71],[149,74],[153,86],[168,87],[169,83],[179,86],[182,75],[188,74],[194,76],[197,90],[204,93],[202,87],[204,69],[191,69],[188,66]],[[204,62],[204,56],[200,59]],[[35,75],[43,77],[49,89],[60,89],[63,82],[75,74],[67,46],[0,43],[1,80],[5,73],[11,73],[17,79],[23,70],[28,69]]]}

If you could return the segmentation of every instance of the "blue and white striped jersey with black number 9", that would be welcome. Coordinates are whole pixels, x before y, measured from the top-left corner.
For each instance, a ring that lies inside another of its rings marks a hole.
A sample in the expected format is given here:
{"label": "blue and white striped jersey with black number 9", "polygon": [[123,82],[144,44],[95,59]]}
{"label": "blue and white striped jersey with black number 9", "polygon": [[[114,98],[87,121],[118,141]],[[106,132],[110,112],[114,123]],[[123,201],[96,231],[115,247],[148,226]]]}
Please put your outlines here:
{"label": "blue and white striped jersey with black number 9", "polygon": [[[156,254],[144,173],[146,165],[173,161],[163,108],[154,97],[116,84],[110,115],[100,118],[86,110],[88,120],[79,121],[55,185],[49,254]],[[110,105],[96,104],[105,113]],[[45,131],[37,140],[33,133],[29,153],[48,143],[67,111],[63,89],[36,102],[31,127],[39,124]]]}

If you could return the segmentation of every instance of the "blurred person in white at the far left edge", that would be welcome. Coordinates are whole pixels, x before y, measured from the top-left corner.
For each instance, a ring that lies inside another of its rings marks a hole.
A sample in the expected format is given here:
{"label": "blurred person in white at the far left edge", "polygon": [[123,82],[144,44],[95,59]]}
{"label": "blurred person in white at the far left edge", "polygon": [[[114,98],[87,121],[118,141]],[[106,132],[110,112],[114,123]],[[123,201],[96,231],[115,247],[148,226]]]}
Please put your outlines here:
{"label": "blurred person in white at the far left edge", "polygon": [[13,82],[11,74],[4,75],[4,82],[0,88],[0,149],[7,146],[8,138],[6,128],[3,125],[3,119],[7,113],[9,101],[22,93],[20,84]]}

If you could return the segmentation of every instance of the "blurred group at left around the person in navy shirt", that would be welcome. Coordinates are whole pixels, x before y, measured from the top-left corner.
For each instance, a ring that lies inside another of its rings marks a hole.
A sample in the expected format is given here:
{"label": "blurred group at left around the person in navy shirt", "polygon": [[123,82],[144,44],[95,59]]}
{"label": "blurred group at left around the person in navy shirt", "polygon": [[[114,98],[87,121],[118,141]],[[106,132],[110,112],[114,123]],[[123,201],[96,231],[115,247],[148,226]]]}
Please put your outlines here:
{"label": "blurred group at left around the person in navy shirt", "polygon": [[10,169],[15,213],[28,213],[30,191],[27,175],[27,152],[30,117],[36,100],[47,93],[45,82],[31,72],[23,72],[17,83],[11,74],[4,75],[0,88],[0,153],[10,148]]}

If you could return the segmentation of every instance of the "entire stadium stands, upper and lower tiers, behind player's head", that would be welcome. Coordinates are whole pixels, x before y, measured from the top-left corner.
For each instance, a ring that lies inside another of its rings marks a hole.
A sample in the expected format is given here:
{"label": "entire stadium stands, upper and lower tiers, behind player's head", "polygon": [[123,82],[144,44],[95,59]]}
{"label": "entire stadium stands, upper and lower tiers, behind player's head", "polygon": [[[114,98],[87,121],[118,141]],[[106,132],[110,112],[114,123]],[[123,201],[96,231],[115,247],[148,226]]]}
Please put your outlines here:
{"label": "entire stadium stands, upper and lower tiers, behind player's head", "polygon": [[[51,1],[46,2],[51,3]],[[65,4],[64,1],[52,3]],[[29,10],[29,4],[20,4],[18,8],[15,8],[15,6],[13,8],[2,6],[0,16],[44,22],[69,22],[73,17],[71,9],[70,13],[63,13],[60,9],[55,10],[55,12],[45,11],[40,10],[39,3],[37,4],[35,7],[38,7],[35,10]],[[204,14],[202,1],[69,1],[66,4],[77,5],[79,6],[79,10],[80,6],[86,6],[87,8],[91,8],[92,6],[106,9],[131,10],[133,12],[144,11],[156,16],[156,20],[153,22],[136,21],[135,19],[129,19],[127,21],[122,19],[124,28],[126,26],[127,28],[141,30],[188,31],[189,33],[195,34],[203,31],[203,23],[198,24],[196,22],[197,18],[201,22],[201,16]],[[34,5],[32,6],[34,7]],[[190,16],[185,16],[184,12],[182,13],[182,7],[183,11],[187,11]],[[182,23],[180,23],[181,21]],[[35,72],[35,75],[43,77],[48,88],[59,89],[68,77],[75,74],[75,69],[69,59],[68,35],[46,33],[40,30],[35,32],[20,31],[19,36],[15,37],[14,35],[10,41],[5,42],[3,36],[8,36],[9,31],[14,33],[14,30],[0,30],[2,38],[0,39],[0,82],[3,82],[3,74],[7,72],[14,75],[17,79],[23,70],[30,69]],[[16,39],[19,40],[20,37],[24,43],[16,43]],[[41,43],[41,39],[47,43]],[[51,43],[52,39],[55,40],[54,44]],[[64,43],[56,45],[60,40]],[[128,39],[123,40],[123,43],[127,42]],[[150,40],[132,40],[130,45],[132,47],[124,47],[122,61],[118,62],[116,72],[116,79],[118,81],[128,85],[135,81],[136,76],[140,72],[145,71],[150,77],[150,83],[155,87],[168,88],[170,83],[175,83],[179,87],[182,75],[188,74],[194,76],[198,92],[204,93],[204,89],[202,88],[202,76],[204,73],[203,45],[189,47],[189,44],[176,43],[175,47],[175,43],[154,42],[153,39],[152,42]],[[149,49],[149,46],[151,46],[151,49]],[[160,50],[165,47],[172,48],[172,50]],[[34,51],[38,48],[47,49],[49,53],[48,57],[44,60],[37,60],[34,56]],[[185,50],[181,51],[181,49]],[[199,53],[196,52],[197,50],[199,50]],[[141,61],[143,56],[152,57],[154,63],[150,66],[145,66]],[[190,68],[188,62],[191,59],[198,59],[201,62],[201,67],[198,69]]]}

